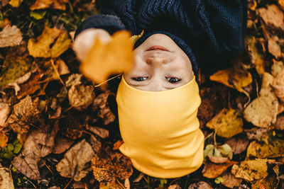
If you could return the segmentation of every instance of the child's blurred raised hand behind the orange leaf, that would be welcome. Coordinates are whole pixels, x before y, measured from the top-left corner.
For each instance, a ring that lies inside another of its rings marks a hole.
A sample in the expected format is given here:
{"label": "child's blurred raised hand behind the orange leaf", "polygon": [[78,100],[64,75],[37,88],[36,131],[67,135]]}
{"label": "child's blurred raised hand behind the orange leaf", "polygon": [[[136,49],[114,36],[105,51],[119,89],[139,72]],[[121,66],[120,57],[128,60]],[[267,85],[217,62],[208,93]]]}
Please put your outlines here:
{"label": "child's blurred raised hand behind the orange leaf", "polygon": [[103,43],[111,40],[111,35],[106,30],[90,28],[82,31],[74,41],[73,50],[75,51],[78,59],[82,61],[86,58],[87,53],[94,44],[94,40],[99,38]]}

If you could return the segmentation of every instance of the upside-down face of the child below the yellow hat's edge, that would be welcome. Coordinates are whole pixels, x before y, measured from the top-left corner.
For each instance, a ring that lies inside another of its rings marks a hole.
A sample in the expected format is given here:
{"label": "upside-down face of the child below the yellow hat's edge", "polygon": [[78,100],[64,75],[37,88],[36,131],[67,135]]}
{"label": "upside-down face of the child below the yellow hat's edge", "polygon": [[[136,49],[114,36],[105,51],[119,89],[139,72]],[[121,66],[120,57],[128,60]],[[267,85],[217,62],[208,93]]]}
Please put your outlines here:
{"label": "upside-down face of the child below the yellow hat's edge", "polygon": [[127,84],[134,88],[166,91],[192,80],[190,59],[168,35],[151,35],[134,53],[134,67],[124,74]]}

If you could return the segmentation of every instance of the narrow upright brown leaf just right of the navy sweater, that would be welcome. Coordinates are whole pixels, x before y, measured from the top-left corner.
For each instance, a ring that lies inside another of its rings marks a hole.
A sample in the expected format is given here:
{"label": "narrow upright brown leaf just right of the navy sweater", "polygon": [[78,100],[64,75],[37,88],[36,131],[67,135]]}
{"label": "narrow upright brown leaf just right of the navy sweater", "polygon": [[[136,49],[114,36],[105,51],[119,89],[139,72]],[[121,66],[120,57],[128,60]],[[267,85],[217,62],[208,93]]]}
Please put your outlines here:
{"label": "narrow upright brown leaf just right of the navy sweater", "polygon": [[264,74],[265,72],[264,69],[265,56],[263,55],[262,52],[258,50],[257,47],[258,41],[253,36],[251,38],[246,38],[246,44],[248,46],[249,55],[251,57],[251,63],[254,64],[254,66],[256,67],[256,71],[258,72],[258,74],[262,76],[262,74]]}

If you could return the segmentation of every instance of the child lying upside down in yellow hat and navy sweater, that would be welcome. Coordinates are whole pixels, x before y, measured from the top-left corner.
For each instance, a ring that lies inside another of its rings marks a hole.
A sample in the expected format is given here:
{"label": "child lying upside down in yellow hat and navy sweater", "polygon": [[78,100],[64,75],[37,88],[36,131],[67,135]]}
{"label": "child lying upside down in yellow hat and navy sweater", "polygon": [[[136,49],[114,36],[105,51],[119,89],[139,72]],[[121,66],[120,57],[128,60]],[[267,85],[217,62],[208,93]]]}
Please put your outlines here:
{"label": "child lying upside down in yellow hat and navy sweater", "polygon": [[192,173],[202,164],[204,145],[197,62],[213,71],[244,49],[246,0],[104,0],[100,6],[103,14],[77,29],[79,59],[96,36],[108,42],[117,30],[144,30],[116,96],[121,152],[149,176]]}

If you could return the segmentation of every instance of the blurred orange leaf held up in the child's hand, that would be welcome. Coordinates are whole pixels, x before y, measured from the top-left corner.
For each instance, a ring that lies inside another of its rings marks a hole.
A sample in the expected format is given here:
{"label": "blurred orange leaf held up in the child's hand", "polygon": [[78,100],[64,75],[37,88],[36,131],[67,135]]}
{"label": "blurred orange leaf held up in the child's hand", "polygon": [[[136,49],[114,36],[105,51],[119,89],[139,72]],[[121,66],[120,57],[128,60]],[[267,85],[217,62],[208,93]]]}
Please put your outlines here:
{"label": "blurred orange leaf held up in the child's hand", "polygon": [[101,84],[111,74],[130,71],[133,67],[133,42],[128,31],[119,31],[112,35],[109,43],[95,40],[86,59],[83,60],[81,71],[89,79]]}

